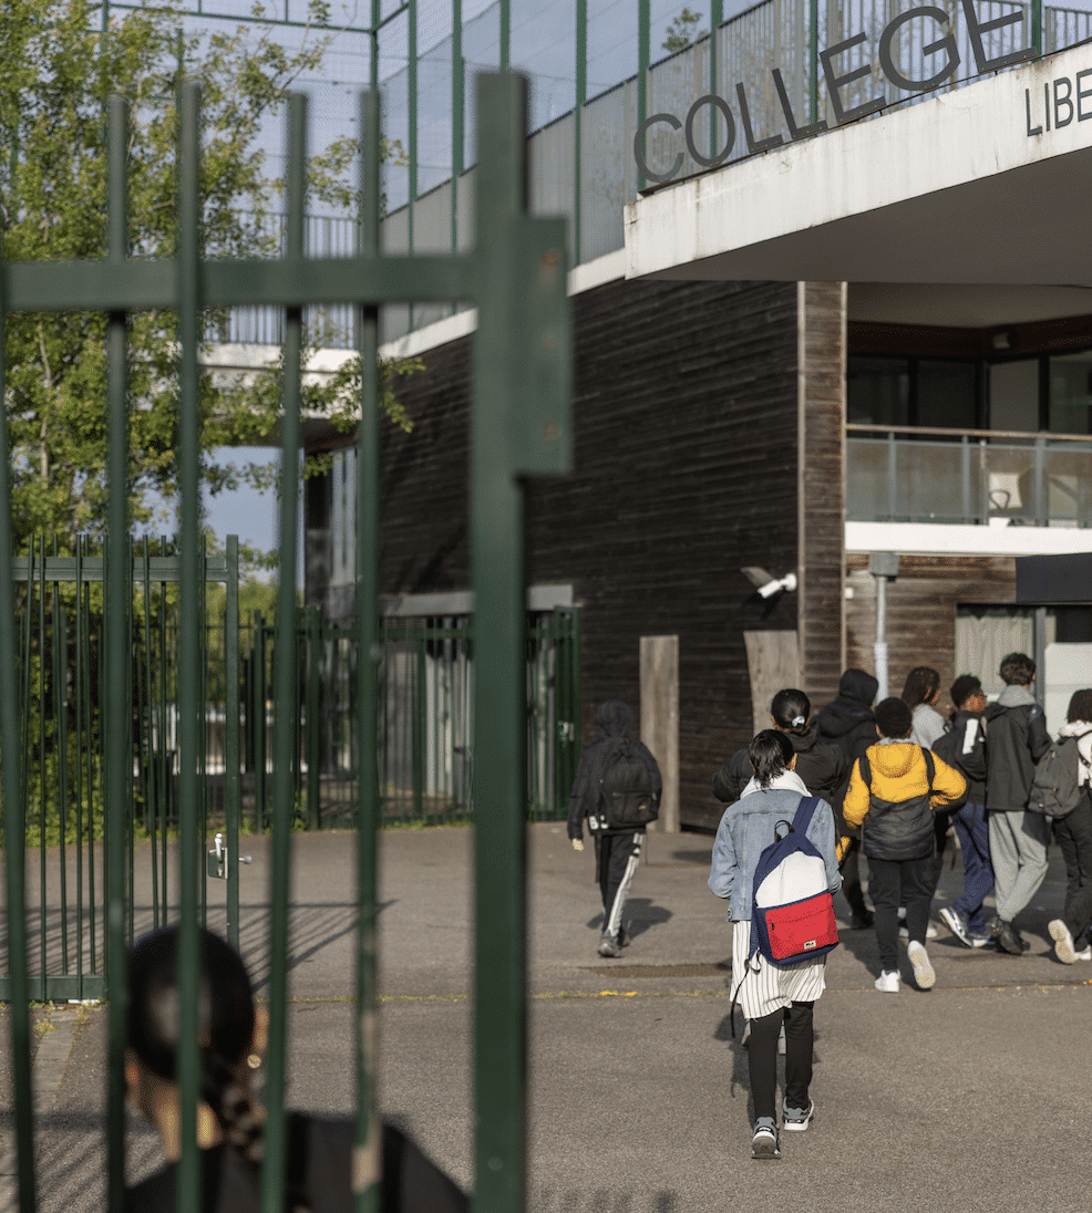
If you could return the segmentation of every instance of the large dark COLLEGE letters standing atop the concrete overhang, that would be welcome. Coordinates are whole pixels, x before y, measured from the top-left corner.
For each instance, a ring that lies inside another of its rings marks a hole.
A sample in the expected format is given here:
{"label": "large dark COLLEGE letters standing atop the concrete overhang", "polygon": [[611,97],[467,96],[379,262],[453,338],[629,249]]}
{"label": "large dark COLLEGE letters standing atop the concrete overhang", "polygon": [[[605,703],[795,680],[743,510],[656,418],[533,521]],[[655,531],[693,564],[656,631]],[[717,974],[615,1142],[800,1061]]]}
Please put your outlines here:
{"label": "large dark COLLEGE letters standing atop the concrete overhang", "polygon": [[[973,0],[960,0],[960,2],[962,4],[963,19],[966,22],[971,51],[974,56],[978,74],[983,72],[994,72],[997,68],[1007,67],[1011,63],[1022,63],[1025,59],[1034,58],[1035,52],[1031,47],[1022,47],[1020,50],[1009,51],[1006,55],[999,55],[990,58],[986,55],[986,50],[983,44],[984,34],[990,34],[1005,25],[1013,25],[1022,22],[1024,19],[1024,15],[1022,12],[1009,12],[1003,17],[996,17],[993,21],[979,21],[974,12]],[[911,80],[906,76],[895,64],[894,56],[892,55],[892,44],[894,42],[895,35],[904,25],[908,25],[914,21],[933,22],[939,35],[934,41],[922,47],[922,57],[929,55],[944,55],[944,66],[940,70],[935,72],[925,80]],[[955,35],[950,30],[949,24],[949,15],[944,11],[944,8],[940,8],[937,5],[921,5],[916,8],[910,8],[904,13],[899,13],[898,17],[894,17],[891,22],[888,22],[888,24],[883,28],[883,33],[880,35],[880,69],[883,75],[897,89],[914,92],[927,92],[929,89],[935,89],[939,84],[952,75],[960,66],[959,46],[956,45]],[[860,46],[866,38],[868,35],[864,33],[854,34],[852,38],[847,38],[843,42],[836,42],[834,46],[827,46],[825,50],[819,52],[819,62],[823,64],[823,76],[826,80],[830,104],[834,110],[835,124],[837,126],[843,126],[846,123],[852,123],[858,118],[874,114],[876,110],[882,109],[888,104],[887,96],[881,92],[870,101],[849,106],[848,108],[846,107],[843,90],[854,84],[857,80],[866,79],[872,72],[872,66],[871,63],[864,63],[860,67],[854,68],[852,72],[843,72],[843,74],[840,75],[838,72],[841,69],[836,61],[840,55],[852,51],[854,46]],[[785,79],[781,75],[781,69],[773,68],[770,76],[773,78],[774,87],[778,92],[781,112],[785,115],[787,141],[790,143],[796,139],[807,138],[811,135],[818,135],[820,131],[825,131],[827,129],[827,123],[825,120],[808,123],[806,126],[798,125],[797,116],[792,112],[792,104],[789,99],[789,90],[785,87]],[[743,137],[746,142],[749,154],[764,152],[768,148],[780,147],[786,142],[785,135],[780,131],[775,135],[768,135],[766,138],[761,139],[755,137],[751,110],[747,106],[747,92],[743,82],[739,82],[735,86],[735,99],[739,106],[739,129],[743,131]],[[715,155],[704,155],[698,150],[698,146],[694,142],[694,121],[706,106],[711,106],[713,109],[717,109],[724,119],[724,146]],[[735,147],[738,135],[735,114],[733,114],[728,102],[723,97],[718,97],[715,93],[707,93],[705,97],[699,97],[694,104],[690,106],[686,121],[679,121],[675,114],[653,114],[652,118],[647,118],[637,127],[637,133],[633,138],[633,158],[637,161],[638,171],[647,181],[671,181],[671,178],[678,173],[683,164],[682,152],[676,154],[673,163],[666,172],[656,172],[655,169],[650,167],[645,161],[644,136],[645,132],[658,123],[662,123],[675,131],[683,129],[687,152],[689,152],[690,159],[705,169],[712,169],[716,165],[722,164],[729,155],[732,155]],[[1030,133],[1030,116],[1028,125]]]}

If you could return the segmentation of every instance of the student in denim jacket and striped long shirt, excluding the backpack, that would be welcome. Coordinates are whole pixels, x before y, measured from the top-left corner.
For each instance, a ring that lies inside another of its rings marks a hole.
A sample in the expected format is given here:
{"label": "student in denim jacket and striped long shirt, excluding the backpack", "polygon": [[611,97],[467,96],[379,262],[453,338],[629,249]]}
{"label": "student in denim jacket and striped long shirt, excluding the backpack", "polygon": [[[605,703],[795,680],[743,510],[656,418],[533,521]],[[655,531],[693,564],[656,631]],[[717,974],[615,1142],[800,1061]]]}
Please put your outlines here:
{"label": "student in denim jacket and striped long shirt, excluding the backpack", "polygon": [[[783,1128],[803,1132],[815,1115],[811,1098],[813,1008],[825,989],[825,957],[779,968],[758,953],[747,964],[751,944],[751,895],[762,852],[775,841],[778,822],[790,821],[808,790],[795,773],[796,754],[784,733],[767,729],[749,746],[753,775],[721,818],[713,843],[709,887],[728,901],[732,923],[732,995],[751,1021],[747,1065],[755,1124],[752,1158],[780,1158],[777,1123],[778,1036],[785,1027]],[[831,893],[842,878],[830,805],[820,801],[806,837],[826,865]]]}

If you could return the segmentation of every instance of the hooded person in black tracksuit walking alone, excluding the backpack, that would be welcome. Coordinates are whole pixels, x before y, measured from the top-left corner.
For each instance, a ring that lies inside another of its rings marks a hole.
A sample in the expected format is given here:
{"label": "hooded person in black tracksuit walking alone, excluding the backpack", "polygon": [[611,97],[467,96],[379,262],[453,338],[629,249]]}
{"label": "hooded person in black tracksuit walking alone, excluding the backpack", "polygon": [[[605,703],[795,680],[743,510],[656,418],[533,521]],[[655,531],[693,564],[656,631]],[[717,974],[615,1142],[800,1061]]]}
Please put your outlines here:
{"label": "hooded person in black tracksuit walking alone, excluding the backpack", "polygon": [[[596,842],[596,876],[603,898],[603,938],[599,940],[599,956],[620,956],[626,945],[621,913],[641,861],[644,828],[612,830],[607,825],[599,797],[608,761],[619,742],[629,739],[632,731],[633,710],[616,699],[607,700],[596,712],[596,723],[599,725],[599,738],[585,747],[573,781],[573,795],[569,798],[569,838],[576,850],[584,850],[584,819],[587,818],[588,828]],[[641,754],[648,767],[653,795],[659,799],[664,782],[656,759],[639,741],[630,741],[630,746]]]}

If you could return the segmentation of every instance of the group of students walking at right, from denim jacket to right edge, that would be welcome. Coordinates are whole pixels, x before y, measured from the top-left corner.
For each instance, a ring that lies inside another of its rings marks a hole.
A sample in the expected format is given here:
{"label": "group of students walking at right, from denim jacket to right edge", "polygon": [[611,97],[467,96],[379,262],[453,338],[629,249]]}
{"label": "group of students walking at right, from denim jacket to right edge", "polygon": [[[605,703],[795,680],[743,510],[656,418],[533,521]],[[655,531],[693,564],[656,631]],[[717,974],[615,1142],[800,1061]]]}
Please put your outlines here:
{"label": "group of students walking at right, from denim jacket to right edge", "polygon": [[[1052,742],[1031,695],[1035,662],[1009,654],[1000,674],[1005,689],[990,705],[978,678],[957,678],[949,719],[937,711],[940,679],[928,666],[911,670],[903,695],[875,708],[877,680],[849,670],[837,697],[814,721],[803,691],[779,691],[770,705],[773,728],[713,775],[713,793],[727,808],[709,887],[729,902],[733,998],[749,1019],[752,1157],[780,1157],[779,1035],[785,1052],[780,1128],[804,1131],[815,1115],[809,1097],[812,1014],[825,987],[824,958],[777,967],[764,956],[749,957],[747,947],[756,865],[777,837],[778,822],[791,821],[806,797],[826,802],[812,814],[806,837],[826,862],[830,893],[844,892],[852,927],[875,927],[877,990],[899,992],[899,935],[916,985],[927,990],[935,983],[926,945],[937,934],[929,909],[949,824],[962,850],[963,892],[940,911],[942,919],[968,947],[994,944],[1013,956],[1028,947],[1013,919],[1046,875],[1050,819],[1028,805],[1036,763]],[[1076,739],[1080,796],[1071,811],[1053,821],[1068,890],[1064,911],[1048,930],[1058,959],[1071,964],[1092,961],[1092,690],[1073,696],[1068,717],[1060,736]],[[874,910],[861,890],[860,854],[869,860]],[[991,890],[996,911],[988,915],[984,902]]]}

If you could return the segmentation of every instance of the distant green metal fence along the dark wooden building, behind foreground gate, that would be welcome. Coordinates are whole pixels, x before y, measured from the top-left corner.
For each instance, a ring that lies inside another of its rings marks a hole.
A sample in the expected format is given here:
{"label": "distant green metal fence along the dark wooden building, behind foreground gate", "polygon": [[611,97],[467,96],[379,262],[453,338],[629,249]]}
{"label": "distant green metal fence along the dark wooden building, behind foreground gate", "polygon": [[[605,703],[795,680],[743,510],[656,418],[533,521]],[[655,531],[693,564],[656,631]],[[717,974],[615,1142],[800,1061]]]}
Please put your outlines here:
{"label": "distant green metal fence along the dark wooden building, behind foreground gate", "polygon": [[[530,616],[527,639],[527,811],[568,813],[580,758],[580,609]],[[243,630],[243,820],[266,826],[272,757],[269,711],[274,628],[255,614]],[[356,824],[357,636],[308,608],[300,655],[296,802],[308,830]],[[474,621],[472,616],[383,619],[377,661],[380,816],[385,825],[444,825],[473,816]],[[212,738],[211,759],[218,754]]]}

